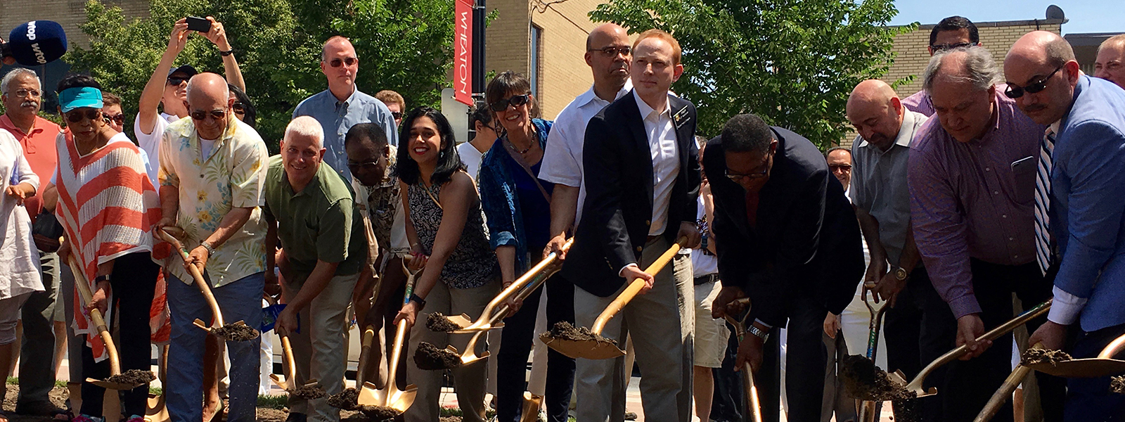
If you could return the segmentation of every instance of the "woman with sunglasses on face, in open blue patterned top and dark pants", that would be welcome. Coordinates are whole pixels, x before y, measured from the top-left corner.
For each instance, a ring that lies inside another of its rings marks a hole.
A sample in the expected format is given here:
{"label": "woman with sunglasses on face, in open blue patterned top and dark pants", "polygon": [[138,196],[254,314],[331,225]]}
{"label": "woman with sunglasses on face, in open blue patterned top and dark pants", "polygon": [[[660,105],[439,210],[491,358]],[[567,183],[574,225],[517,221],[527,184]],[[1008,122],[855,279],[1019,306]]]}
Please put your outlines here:
{"label": "woman with sunglasses on face, in open blue patterned top and dark pants", "polygon": [[[550,197],[555,185],[539,179],[551,122],[532,118],[531,82],[511,71],[496,75],[485,89],[488,107],[498,123],[500,138],[480,164],[480,203],[492,234],[490,245],[500,260],[503,287],[536,264],[550,240]],[[574,323],[574,287],[548,280],[547,323]],[[526,389],[523,368],[531,351],[542,287],[525,304],[508,300],[512,311],[501,334],[496,380],[496,415],[501,422],[518,422]],[[526,306],[521,306],[526,305]],[[574,359],[554,350],[547,357],[548,421],[565,422],[574,381]]]}

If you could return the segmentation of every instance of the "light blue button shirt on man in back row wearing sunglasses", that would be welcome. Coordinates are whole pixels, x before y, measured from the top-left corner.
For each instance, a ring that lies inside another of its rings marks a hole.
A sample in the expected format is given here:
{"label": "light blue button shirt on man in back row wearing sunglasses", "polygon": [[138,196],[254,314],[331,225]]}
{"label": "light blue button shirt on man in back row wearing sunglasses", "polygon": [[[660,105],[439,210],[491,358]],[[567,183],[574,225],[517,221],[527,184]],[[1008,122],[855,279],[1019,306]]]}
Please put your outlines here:
{"label": "light blue button shirt on man in back row wearing sunglasses", "polygon": [[348,152],[344,151],[344,135],[348,129],[361,123],[374,123],[387,132],[387,142],[398,145],[398,126],[390,109],[375,97],[360,92],[358,88],[351,97],[340,101],[331,90],[324,90],[306,98],[292,110],[292,118],[310,116],[324,129],[324,162],[351,182],[348,169]]}

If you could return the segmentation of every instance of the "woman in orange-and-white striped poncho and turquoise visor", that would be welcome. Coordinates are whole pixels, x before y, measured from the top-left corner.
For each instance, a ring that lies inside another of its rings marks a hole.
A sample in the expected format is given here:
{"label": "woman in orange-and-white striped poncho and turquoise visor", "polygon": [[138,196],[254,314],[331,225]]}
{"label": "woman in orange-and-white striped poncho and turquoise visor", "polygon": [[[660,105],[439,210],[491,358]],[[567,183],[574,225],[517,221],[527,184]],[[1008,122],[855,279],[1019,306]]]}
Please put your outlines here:
{"label": "woman in orange-and-white striped poncho and turquoise visor", "polygon": [[[112,315],[117,307],[120,330],[122,370],[148,369],[150,307],[160,267],[153,255],[156,241],[152,225],[160,219],[156,191],[145,173],[140,150],[128,136],[110,128],[100,108],[101,90],[90,77],[73,75],[58,82],[58,102],[68,133],[57,141],[58,167],[53,183],[58,190],[55,209],[66,230],[58,250],[63,260],[73,259],[90,284],[93,300],[82,304],[74,325],[87,334],[82,347],[82,374],[88,378],[109,376],[105,344],[97,336],[87,309]],[[166,245],[165,245],[166,246]],[[162,257],[158,257],[162,258]],[[81,303],[81,300],[75,300]],[[126,421],[142,422],[148,386],[125,392]],[[82,384],[82,408],[75,421],[100,422],[105,389]]]}

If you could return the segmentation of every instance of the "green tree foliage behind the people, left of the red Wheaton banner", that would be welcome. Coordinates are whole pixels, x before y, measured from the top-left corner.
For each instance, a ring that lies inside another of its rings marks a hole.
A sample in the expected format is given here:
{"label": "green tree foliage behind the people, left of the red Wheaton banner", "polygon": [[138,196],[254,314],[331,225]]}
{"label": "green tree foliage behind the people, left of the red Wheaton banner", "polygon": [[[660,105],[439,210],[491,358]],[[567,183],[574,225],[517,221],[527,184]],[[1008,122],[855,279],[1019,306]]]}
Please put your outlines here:
{"label": "green tree foliage behind the people, left of the red Wheaton banner", "polygon": [[[448,86],[452,8],[448,0],[153,0],[148,18],[126,21],[119,7],[90,0],[81,25],[90,45],[73,46],[64,60],[120,95],[132,118],[176,20],[214,16],[226,29],[258,108],[258,132],[277,151],[297,104],[327,88],[321,45],[334,35],[356,45],[361,90],[393,89],[408,107],[436,105]],[[223,73],[215,45],[198,34],[176,64]]]}

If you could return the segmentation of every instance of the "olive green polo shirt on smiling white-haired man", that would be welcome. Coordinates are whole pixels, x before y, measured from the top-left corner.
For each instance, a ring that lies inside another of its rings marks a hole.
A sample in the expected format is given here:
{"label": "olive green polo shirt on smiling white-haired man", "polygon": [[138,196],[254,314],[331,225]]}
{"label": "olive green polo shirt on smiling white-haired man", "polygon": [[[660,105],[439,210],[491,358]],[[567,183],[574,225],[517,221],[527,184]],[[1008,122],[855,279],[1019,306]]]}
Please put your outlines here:
{"label": "olive green polo shirt on smiling white-haired man", "polygon": [[278,222],[278,237],[294,271],[289,282],[304,284],[318,260],[340,262],[336,276],[360,271],[367,257],[363,221],[357,218],[351,188],[327,164],[322,162],[308,186],[295,192],[281,155],[271,156],[263,212]]}

